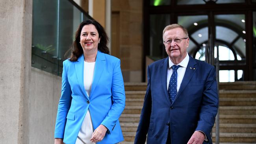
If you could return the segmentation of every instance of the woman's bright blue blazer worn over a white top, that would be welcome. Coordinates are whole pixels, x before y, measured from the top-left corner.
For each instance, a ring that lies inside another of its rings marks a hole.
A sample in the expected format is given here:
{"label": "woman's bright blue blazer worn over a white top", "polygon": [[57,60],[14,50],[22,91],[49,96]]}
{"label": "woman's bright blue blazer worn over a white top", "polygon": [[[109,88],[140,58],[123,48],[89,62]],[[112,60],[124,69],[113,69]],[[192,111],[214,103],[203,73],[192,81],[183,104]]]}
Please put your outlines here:
{"label": "woman's bright blue blazer worn over a white top", "polygon": [[115,144],[124,140],[119,117],[125,107],[124,81],[120,59],[97,52],[90,97],[83,85],[84,57],[63,61],[61,98],[55,126],[55,138],[75,144],[86,112],[90,111],[93,130],[100,124],[108,131],[97,144]]}

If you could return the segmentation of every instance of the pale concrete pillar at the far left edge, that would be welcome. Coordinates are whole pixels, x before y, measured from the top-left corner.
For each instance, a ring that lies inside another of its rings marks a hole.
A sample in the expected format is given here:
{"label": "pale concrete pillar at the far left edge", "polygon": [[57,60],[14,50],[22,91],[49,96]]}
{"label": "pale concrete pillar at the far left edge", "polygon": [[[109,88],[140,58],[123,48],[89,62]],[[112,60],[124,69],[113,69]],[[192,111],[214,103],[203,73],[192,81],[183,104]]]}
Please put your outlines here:
{"label": "pale concrete pillar at the far left edge", "polygon": [[32,1],[0,1],[0,141],[26,143],[31,74]]}

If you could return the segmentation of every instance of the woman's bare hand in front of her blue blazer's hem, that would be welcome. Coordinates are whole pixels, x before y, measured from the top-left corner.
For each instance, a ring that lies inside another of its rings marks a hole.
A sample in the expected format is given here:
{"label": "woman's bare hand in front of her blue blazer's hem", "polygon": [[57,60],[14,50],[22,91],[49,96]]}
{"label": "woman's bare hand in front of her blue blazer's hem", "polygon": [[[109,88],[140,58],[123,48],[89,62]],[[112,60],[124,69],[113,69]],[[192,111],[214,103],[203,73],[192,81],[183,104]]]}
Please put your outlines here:
{"label": "woman's bare hand in front of her blue blazer's hem", "polygon": [[98,126],[93,132],[93,135],[91,136],[91,142],[100,142],[101,140],[103,140],[107,130],[108,129],[102,124]]}

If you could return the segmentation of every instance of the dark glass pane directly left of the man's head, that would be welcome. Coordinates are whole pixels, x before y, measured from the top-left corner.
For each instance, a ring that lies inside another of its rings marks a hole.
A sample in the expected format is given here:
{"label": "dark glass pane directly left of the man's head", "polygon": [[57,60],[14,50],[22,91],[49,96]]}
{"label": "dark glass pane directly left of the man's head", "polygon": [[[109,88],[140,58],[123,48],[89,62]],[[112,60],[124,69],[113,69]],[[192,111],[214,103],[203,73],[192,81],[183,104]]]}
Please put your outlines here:
{"label": "dark glass pane directly left of the man's head", "polygon": [[170,24],[170,15],[150,15],[150,56],[152,59],[166,57],[163,45],[163,29]]}

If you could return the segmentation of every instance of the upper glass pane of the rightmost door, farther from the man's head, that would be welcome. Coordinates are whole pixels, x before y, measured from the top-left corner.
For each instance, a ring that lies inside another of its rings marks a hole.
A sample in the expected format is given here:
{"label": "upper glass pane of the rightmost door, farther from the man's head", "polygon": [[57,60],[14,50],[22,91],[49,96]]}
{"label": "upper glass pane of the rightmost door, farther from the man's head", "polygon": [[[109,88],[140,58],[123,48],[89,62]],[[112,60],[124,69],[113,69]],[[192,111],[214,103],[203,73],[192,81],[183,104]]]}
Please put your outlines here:
{"label": "upper glass pane of the rightmost door, farther from the man's head", "polygon": [[[245,15],[215,15],[215,24],[217,42],[215,45],[231,48],[237,60],[245,60]],[[224,55],[231,54],[229,51],[220,50],[220,52]]]}

